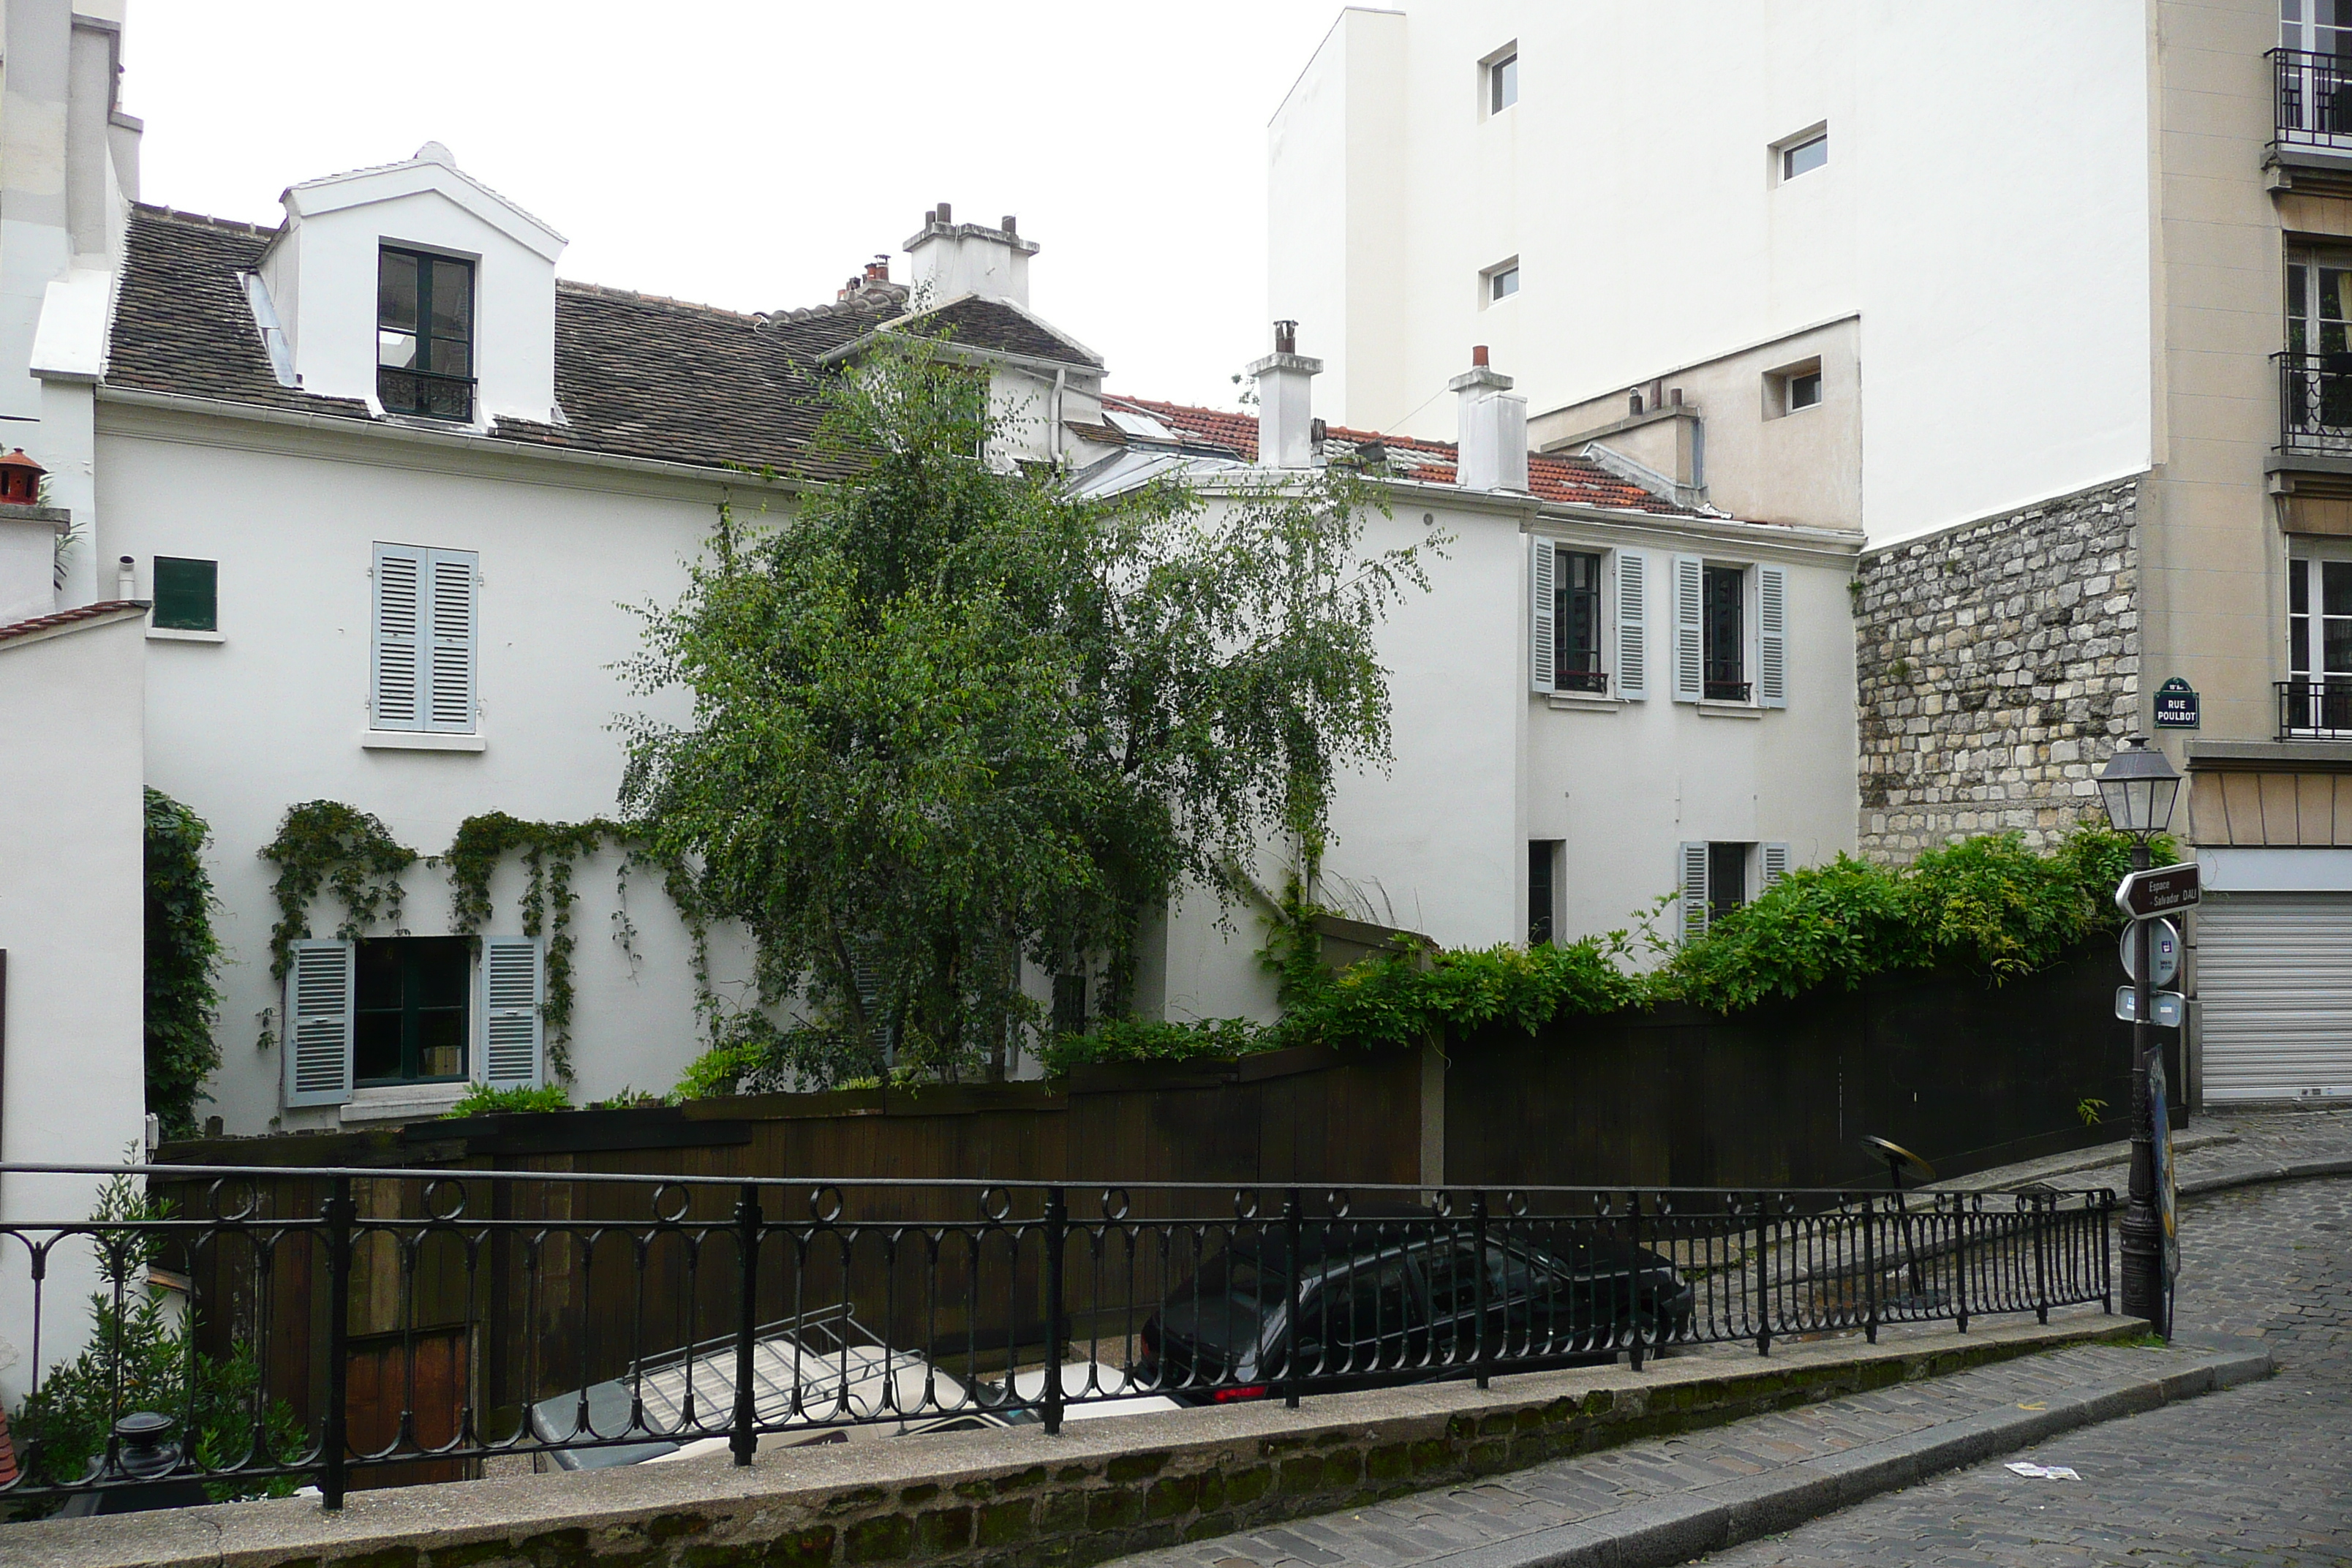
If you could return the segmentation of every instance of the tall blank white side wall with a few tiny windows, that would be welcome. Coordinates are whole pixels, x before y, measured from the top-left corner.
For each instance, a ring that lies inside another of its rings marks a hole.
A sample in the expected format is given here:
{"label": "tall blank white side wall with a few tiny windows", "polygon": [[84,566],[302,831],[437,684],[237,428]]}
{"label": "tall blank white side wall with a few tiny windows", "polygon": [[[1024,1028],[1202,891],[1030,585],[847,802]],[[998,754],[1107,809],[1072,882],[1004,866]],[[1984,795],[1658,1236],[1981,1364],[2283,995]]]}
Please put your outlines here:
{"label": "tall blank white side wall with a few tiny windows", "polygon": [[[2140,0],[1684,21],[1449,0],[1334,28],[1272,118],[1268,230],[1272,313],[1348,367],[1334,421],[1446,435],[1465,343],[1541,416],[1860,313],[1872,541],[2150,465]],[[1519,101],[1489,115],[1479,61],[1510,40]],[[1367,71],[1395,92],[1334,89]],[[1776,181],[1771,146],[1818,122],[1830,162]],[[1334,214],[1367,158],[1409,221]],[[1486,303],[1508,256],[1522,289]]]}

